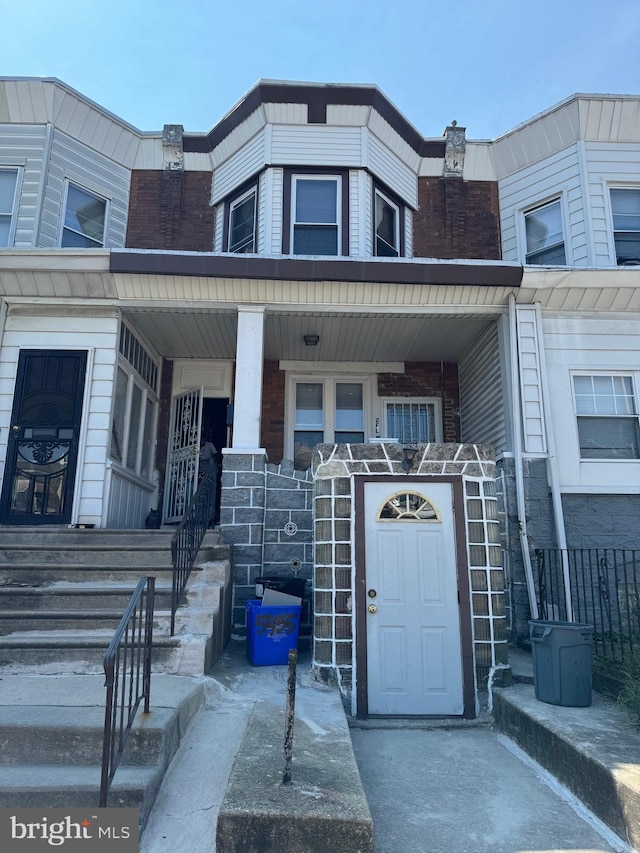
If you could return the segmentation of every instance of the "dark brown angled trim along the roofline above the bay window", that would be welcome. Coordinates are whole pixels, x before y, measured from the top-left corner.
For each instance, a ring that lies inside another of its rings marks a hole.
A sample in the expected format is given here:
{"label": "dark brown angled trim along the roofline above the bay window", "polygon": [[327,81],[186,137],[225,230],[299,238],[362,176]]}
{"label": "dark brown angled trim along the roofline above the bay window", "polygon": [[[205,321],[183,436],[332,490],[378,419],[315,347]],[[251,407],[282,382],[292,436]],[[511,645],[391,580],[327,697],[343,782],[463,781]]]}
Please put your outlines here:
{"label": "dark brown angled trim along the roofline above the bay window", "polygon": [[444,157],[444,139],[425,139],[375,86],[306,86],[258,83],[240,103],[207,134],[183,137],[185,151],[209,153],[262,104],[307,104],[311,123],[326,121],[329,104],[373,107],[420,157]]}

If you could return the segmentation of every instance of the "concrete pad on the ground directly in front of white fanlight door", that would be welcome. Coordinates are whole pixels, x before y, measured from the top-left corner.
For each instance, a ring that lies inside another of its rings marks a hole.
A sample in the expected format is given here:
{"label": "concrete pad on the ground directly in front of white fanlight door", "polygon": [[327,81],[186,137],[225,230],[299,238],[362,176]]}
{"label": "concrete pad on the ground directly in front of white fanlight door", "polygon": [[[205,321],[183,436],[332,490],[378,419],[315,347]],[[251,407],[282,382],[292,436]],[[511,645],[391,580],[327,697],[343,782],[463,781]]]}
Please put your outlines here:
{"label": "concrete pad on the ground directly in front of white fanlight door", "polygon": [[351,735],[376,853],[628,849],[606,830],[603,838],[492,728]]}

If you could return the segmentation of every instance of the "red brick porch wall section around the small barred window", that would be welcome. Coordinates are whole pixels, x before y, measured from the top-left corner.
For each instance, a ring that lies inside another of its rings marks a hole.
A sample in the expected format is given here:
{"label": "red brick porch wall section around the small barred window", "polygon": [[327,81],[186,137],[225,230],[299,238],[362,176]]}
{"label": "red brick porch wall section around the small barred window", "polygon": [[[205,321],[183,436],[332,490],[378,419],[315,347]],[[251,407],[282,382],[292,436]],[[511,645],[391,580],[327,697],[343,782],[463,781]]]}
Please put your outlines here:
{"label": "red brick porch wall section around the small barred window", "polygon": [[378,374],[380,397],[438,397],[442,400],[443,441],[460,441],[458,365],[453,362],[411,362],[404,373]]}

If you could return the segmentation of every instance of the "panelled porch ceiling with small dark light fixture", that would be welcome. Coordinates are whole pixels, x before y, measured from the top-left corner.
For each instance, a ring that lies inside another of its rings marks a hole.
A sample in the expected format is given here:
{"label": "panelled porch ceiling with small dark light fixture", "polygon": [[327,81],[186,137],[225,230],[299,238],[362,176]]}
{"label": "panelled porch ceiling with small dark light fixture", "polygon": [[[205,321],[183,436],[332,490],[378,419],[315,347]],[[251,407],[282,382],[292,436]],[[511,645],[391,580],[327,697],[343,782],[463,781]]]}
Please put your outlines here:
{"label": "panelled porch ceiling with small dark light fixture", "polygon": [[[133,326],[165,358],[234,359],[236,311],[129,308]],[[458,361],[495,315],[267,313],[265,358],[293,361]],[[315,334],[317,346],[304,335]]]}

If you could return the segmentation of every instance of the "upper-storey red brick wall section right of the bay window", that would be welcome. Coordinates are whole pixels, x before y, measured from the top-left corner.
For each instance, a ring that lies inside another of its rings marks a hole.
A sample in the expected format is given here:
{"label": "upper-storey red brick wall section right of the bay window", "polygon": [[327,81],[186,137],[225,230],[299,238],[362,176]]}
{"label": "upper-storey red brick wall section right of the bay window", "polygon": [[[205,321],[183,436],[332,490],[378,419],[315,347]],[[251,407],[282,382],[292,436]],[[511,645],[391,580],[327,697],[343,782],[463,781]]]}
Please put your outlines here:
{"label": "upper-storey red brick wall section right of the bay window", "polygon": [[421,258],[501,258],[498,185],[418,178],[413,254]]}

